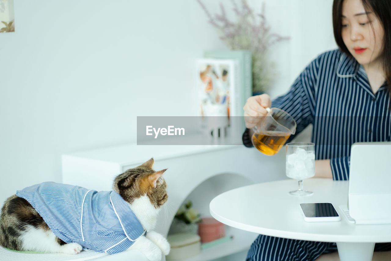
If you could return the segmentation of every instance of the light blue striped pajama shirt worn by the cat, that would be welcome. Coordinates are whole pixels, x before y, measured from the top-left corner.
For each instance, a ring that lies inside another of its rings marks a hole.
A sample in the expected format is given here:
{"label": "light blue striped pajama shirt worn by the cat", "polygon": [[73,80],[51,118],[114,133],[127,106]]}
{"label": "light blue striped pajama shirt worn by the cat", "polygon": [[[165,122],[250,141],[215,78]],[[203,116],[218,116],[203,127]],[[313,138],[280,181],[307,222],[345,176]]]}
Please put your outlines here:
{"label": "light blue striped pajama shirt worn by the cat", "polygon": [[18,190],[53,233],[83,249],[116,254],[133,245],[145,231],[129,204],[115,191],[44,182]]}

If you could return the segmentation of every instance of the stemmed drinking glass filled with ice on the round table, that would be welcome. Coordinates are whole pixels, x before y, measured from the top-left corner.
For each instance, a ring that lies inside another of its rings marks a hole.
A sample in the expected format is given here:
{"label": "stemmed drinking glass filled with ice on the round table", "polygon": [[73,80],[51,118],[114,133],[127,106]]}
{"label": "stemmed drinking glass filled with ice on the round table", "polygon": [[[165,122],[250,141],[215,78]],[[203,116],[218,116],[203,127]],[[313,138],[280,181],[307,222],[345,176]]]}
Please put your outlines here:
{"label": "stemmed drinking glass filled with ice on the round table", "polygon": [[296,179],[298,190],[290,191],[295,196],[313,194],[303,189],[303,180],[315,176],[315,144],[312,142],[291,142],[287,144],[286,175]]}

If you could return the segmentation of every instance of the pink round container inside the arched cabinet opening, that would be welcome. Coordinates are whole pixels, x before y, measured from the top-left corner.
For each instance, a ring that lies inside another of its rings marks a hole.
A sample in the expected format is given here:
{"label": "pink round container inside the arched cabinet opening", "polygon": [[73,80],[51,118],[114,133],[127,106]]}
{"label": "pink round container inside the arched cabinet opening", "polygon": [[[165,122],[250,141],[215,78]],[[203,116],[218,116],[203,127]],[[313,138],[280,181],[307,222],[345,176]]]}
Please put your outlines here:
{"label": "pink round container inside the arched cabinet opening", "polygon": [[198,224],[198,234],[201,237],[201,242],[206,243],[225,236],[224,224],[217,221],[213,217],[201,218],[201,223]]}

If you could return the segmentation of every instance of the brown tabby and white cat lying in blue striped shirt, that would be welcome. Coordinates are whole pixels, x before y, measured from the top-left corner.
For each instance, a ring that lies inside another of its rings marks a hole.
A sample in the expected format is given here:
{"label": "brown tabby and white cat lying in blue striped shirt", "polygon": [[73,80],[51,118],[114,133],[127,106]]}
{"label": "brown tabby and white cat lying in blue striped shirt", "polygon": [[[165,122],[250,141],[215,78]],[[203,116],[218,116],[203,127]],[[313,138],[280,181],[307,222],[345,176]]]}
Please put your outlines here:
{"label": "brown tabby and white cat lying in blue striped shirt", "polygon": [[[86,248],[109,254],[137,249],[151,261],[161,260],[162,254],[169,254],[170,245],[153,228],[168,199],[167,183],[161,177],[167,169],[155,172],[153,163],[151,158],[118,175],[110,192],[85,192],[86,188],[53,182],[16,192],[2,207],[0,245],[66,254],[78,254]],[[70,207],[72,204],[77,207]]]}

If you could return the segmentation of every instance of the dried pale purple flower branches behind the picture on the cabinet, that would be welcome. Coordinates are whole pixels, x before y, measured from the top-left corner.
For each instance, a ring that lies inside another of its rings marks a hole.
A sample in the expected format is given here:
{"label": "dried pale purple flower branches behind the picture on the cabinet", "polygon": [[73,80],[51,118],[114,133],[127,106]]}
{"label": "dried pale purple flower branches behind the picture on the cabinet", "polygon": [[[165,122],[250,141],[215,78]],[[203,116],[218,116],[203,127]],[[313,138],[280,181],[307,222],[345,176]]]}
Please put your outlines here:
{"label": "dried pale purple flower branches behind the picture on the cabinet", "polygon": [[197,0],[208,17],[208,22],[215,27],[220,34],[220,39],[231,50],[250,50],[253,61],[253,91],[264,92],[272,80],[265,54],[271,46],[277,42],[288,40],[289,37],[270,33],[270,27],[266,25],[264,15],[265,3],[262,4],[260,13],[255,13],[247,4],[241,1],[241,7],[231,0],[233,12],[237,16],[236,22],[231,22],[220,4],[221,14],[210,14],[201,0]]}

